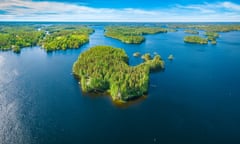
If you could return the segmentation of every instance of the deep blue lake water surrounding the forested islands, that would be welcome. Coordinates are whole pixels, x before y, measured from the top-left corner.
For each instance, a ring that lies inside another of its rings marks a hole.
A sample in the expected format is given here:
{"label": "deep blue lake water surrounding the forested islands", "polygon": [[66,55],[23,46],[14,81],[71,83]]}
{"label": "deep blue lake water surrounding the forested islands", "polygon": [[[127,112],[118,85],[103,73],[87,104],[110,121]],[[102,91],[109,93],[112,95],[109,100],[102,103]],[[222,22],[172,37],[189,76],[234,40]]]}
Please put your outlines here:
{"label": "deep blue lake water surrounding the forested islands", "polygon": [[[128,45],[93,28],[80,49],[0,52],[1,144],[240,143],[240,32],[220,33],[215,46],[185,44],[183,31]],[[144,100],[117,107],[108,96],[83,95],[71,74],[95,45],[125,49],[130,65],[141,62],[136,51],[157,52],[166,69],[151,74]]]}

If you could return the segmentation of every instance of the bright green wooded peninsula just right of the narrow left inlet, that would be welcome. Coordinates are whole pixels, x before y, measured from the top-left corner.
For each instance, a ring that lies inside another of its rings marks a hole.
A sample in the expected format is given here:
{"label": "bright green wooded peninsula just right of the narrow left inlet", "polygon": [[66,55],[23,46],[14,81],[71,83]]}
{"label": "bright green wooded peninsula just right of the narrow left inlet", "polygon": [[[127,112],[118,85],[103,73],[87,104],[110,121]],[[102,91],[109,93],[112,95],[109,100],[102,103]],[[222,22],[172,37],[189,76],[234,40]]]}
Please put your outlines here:
{"label": "bright green wooded peninsula just right of the narrow left inlet", "polygon": [[46,51],[79,48],[89,41],[93,29],[85,26],[53,26],[45,29],[49,34],[41,41]]}

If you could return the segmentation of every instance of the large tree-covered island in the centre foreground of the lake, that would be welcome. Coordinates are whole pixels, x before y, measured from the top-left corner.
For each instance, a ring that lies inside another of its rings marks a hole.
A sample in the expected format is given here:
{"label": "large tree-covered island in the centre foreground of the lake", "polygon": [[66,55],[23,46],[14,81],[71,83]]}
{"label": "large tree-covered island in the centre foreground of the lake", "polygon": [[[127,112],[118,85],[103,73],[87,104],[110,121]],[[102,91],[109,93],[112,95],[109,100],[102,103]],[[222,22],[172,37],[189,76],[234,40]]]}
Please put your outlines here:
{"label": "large tree-covered island in the centre foreground of the lake", "polygon": [[108,92],[113,100],[127,101],[146,94],[150,70],[161,68],[164,62],[159,55],[132,67],[124,50],[95,46],[80,54],[73,73],[83,92]]}

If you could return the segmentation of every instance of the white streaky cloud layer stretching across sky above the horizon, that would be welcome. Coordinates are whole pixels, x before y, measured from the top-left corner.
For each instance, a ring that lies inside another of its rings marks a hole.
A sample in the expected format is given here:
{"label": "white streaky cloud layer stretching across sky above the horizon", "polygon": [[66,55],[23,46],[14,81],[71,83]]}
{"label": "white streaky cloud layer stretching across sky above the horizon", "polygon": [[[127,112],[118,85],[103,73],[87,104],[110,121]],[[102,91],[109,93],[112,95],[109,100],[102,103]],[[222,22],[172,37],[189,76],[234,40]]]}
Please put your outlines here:
{"label": "white streaky cloud layer stretching across sky above the horizon", "polygon": [[[5,21],[240,21],[240,5],[231,2],[178,5],[168,9],[93,8],[61,2],[1,0]],[[230,14],[231,12],[231,14]]]}

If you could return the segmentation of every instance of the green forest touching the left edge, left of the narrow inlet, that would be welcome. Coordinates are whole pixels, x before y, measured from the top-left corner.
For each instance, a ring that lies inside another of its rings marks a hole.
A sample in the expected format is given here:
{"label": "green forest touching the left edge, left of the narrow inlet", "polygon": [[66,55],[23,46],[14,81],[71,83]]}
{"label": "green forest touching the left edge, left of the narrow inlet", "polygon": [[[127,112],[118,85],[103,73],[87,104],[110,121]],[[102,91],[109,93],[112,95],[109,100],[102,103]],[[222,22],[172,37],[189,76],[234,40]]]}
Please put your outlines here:
{"label": "green forest touching the left edge, left of the narrow inlet", "polygon": [[21,48],[37,45],[44,33],[34,26],[0,26],[0,50],[20,53]]}

